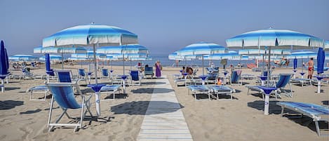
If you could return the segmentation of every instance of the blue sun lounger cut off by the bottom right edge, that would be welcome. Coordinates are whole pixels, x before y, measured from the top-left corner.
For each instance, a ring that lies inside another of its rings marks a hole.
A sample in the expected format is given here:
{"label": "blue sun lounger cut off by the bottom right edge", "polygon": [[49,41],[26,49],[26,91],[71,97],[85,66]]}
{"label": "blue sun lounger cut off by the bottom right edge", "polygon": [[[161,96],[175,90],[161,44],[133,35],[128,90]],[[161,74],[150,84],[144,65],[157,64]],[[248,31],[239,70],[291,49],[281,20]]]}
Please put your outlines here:
{"label": "blue sun lounger cut off by the bottom right edge", "polygon": [[[321,130],[318,126],[318,121],[329,121],[329,109],[328,107],[323,107],[320,105],[314,105],[310,103],[302,103],[302,102],[277,102],[276,105],[281,106],[281,116],[283,116],[284,109],[290,109],[294,112],[298,112],[300,114],[309,116],[315,122],[316,133],[319,136],[323,136],[321,134]],[[302,117],[301,116],[301,117]],[[328,129],[329,130],[329,129]],[[325,134],[328,136],[329,134]]]}

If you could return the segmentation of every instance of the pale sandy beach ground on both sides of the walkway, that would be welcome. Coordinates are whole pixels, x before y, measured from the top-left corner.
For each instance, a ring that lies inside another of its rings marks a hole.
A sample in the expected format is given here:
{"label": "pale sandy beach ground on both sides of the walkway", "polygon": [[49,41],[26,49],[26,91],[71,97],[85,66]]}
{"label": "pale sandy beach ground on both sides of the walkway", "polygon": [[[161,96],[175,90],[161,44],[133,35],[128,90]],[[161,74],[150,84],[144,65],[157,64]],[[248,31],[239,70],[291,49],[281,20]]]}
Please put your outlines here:
{"label": "pale sandy beach ground on both sides of the walkway", "polygon": [[[55,69],[60,69],[56,65]],[[67,66],[74,74],[80,65]],[[85,69],[87,66],[83,66]],[[109,67],[107,67],[109,68]],[[121,74],[123,67],[114,66],[114,74]],[[129,67],[126,67],[128,72]],[[34,74],[45,74],[41,69],[32,69]],[[281,107],[275,101],[270,102],[269,115],[263,114],[264,102],[260,96],[247,95],[246,85],[255,85],[255,80],[244,81],[243,86],[234,85],[233,101],[203,100],[195,101],[187,95],[187,88],[177,87],[173,74],[180,68],[163,67],[175,95],[181,105],[193,140],[329,140],[329,137],[318,137],[314,122],[310,118],[288,119],[281,117]],[[299,70],[301,71],[301,70]],[[12,71],[13,72],[13,71]],[[273,74],[292,73],[291,68],[276,68]],[[14,74],[20,74],[14,71]],[[198,72],[198,75],[202,71]],[[255,74],[250,69],[242,69],[242,74]],[[316,72],[314,72],[316,74]],[[98,121],[84,121],[83,129],[74,133],[72,128],[55,128],[48,132],[47,119],[51,96],[46,101],[29,101],[27,88],[43,85],[45,80],[10,80],[5,93],[0,98],[0,138],[1,140],[137,140],[142,121],[147,111],[156,79],[143,79],[142,86],[128,86],[128,98],[117,96],[114,101],[102,101],[102,115]],[[106,83],[106,80],[100,80]],[[93,83],[93,80],[92,80]],[[93,93],[81,82],[84,93]],[[309,102],[328,107],[329,87],[323,84],[324,93],[316,93],[316,86],[292,85],[293,98],[283,96],[279,101]],[[122,93],[122,91],[121,91]],[[255,92],[252,92],[255,93]],[[42,95],[40,95],[42,97]],[[102,99],[107,95],[102,95]],[[95,114],[95,100],[91,100],[91,110]],[[55,104],[54,115],[61,110]],[[79,116],[79,111],[72,111]],[[328,128],[328,123],[321,122],[321,128]],[[327,132],[328,133],[328,132]]]}

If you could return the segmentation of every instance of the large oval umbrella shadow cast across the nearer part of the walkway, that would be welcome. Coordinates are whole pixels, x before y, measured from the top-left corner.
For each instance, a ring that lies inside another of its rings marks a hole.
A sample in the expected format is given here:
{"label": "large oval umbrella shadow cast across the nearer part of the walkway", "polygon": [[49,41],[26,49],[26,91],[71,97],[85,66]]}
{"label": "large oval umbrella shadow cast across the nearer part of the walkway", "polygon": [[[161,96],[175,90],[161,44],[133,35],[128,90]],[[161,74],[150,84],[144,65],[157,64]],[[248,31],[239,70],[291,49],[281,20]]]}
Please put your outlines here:
{"label": "large oval umbrella shadow cast across the nearer part of the walkway", "polygon": [[[147,108],[150,108],[147,112]],[[151,109],[152,108],[152,109]],[[176,112],[184,108],[180,103],[166,101],[133,101],[110,107],[114,114],[152,115]]]}

